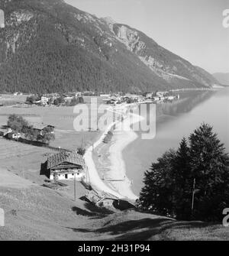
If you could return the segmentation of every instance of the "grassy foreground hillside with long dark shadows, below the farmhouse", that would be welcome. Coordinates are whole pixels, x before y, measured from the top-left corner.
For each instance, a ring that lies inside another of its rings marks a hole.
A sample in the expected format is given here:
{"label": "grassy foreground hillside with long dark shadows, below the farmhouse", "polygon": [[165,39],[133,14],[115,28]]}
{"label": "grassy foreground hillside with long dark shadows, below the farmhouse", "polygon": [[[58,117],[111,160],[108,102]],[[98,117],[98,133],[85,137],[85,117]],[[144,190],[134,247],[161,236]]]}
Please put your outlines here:
{"label": "grassy foreground hillside with long dark shadows, below the farmhouse", "polygon": [[0,240],[229,239],[228,228],[221,225],[176,222],[134,210],[113,213],[37,185],[1,186],[0,202],[5,209]]}

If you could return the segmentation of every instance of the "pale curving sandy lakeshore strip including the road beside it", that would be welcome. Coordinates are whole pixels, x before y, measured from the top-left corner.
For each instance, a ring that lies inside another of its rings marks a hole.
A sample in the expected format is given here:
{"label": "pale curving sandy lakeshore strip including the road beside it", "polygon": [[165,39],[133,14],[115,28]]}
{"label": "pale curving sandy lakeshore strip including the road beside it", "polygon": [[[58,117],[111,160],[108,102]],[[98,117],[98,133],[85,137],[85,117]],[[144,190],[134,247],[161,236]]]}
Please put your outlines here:
{"label": "pale curving sandy lakeshore strip including the road beside it", "polygon": [[[127,109],[136,106],[118,105],[109,107],[108,111],[115,112],[124,119],[116,120],[108,125],[102,136],[89,147],[85,153],[85,164],[89,170],[90,182],[93,187],[111,193],[118,198],[136,200],[137,196],[131,190],[131,180],[126,174],[126,167],[122,157],[122,151],[128,144],[137,139],[137,134],[131,130],[130,125],[139,122],[139,115],[128,113]],[[129,118],[131,116],[131,118]],[[113,128],[113,137],[109,144],[103,139],[108,131]]]}

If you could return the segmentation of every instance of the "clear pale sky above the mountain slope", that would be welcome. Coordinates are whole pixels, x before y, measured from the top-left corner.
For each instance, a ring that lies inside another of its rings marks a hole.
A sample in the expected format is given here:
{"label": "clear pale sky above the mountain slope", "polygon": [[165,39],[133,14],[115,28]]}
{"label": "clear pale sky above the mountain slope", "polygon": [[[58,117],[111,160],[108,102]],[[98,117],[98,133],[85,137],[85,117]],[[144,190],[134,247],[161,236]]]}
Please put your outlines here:
{"label": "clear pale sky above the mountain slope", "polygon": [[229,0],[65,0],[98,18],[111,17],[209,73],[229,73]]}

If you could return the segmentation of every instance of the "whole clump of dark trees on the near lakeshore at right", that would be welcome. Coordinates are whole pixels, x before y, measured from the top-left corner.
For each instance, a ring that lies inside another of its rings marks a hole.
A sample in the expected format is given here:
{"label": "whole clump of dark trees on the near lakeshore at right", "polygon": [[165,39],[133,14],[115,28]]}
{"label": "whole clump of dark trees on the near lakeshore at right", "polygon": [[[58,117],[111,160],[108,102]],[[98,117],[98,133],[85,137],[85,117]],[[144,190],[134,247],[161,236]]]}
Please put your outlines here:
{"label": "whole clump of dark trees on the near lakeshore at right", "polygon": [[[188,143],[189,142],[189,143]],[[147,209],[176,219],[221,221],[229,206],[229,157],[210,125],[202,124],[145,173],[137,201]]]}

